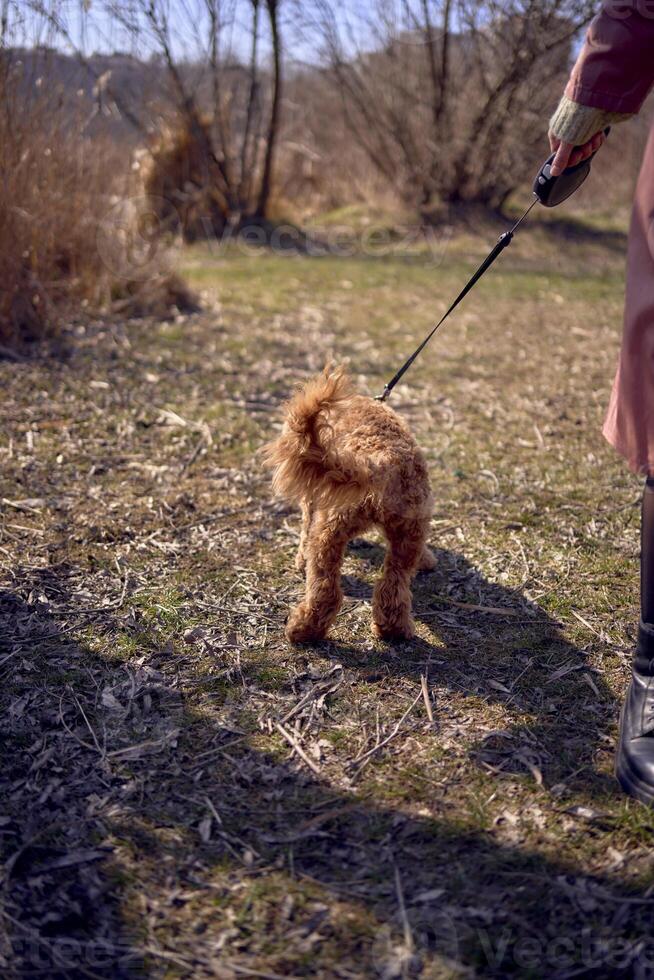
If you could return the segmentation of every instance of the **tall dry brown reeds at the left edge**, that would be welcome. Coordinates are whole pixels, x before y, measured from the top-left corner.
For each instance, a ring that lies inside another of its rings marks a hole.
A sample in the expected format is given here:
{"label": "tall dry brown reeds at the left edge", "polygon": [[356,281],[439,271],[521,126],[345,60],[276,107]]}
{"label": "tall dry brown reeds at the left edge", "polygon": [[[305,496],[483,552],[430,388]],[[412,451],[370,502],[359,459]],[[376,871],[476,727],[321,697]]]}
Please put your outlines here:
{"label": "tall dry brown reeds at the left edge", "polygon": [[160,236],[148,243],[156,254],[147,275],[134,266],[138,230],[122,217],[116,221],[116,206],[134,197],[139,178],[128,147],[86,135],[88,113],[88,101],[76,107],[70,92],[47,78],[26,77],[16,55],[0,52],[0,345],[6,348],[55,337],[66,320],[107,310],[116,299],[128,299],[140,315],[149,308],[156,314],[175,293],[168,289]]}

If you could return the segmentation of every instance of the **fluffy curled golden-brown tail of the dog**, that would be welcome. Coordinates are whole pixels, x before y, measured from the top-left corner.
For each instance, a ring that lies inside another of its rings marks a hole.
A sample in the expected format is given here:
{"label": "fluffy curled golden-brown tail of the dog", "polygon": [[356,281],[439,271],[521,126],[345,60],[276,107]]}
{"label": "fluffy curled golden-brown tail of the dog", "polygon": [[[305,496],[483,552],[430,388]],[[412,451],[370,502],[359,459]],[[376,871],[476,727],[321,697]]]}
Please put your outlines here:
{"label": "fluffy curled golden-brown tail of the dog", "polygon": [[273,489],[286,500],[348,507],[367,493],[370,466],[337,450],[329,421],[332,410],[350,396],[343,368],[325,368],[287,403],[284,431],[264,450]]}

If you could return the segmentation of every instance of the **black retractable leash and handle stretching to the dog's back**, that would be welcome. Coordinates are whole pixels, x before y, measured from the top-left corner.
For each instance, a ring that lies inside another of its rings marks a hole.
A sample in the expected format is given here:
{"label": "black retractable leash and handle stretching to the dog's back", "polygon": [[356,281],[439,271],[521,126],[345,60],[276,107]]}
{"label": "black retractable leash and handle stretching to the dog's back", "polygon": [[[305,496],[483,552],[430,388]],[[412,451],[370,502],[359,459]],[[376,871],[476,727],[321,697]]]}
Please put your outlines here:
{"label": "black retractable leash and handle stretching to the dog's back", "polygon": [[[610,132],[611,132],[611,127],[607,126],[607,128],[604,130],[604,135],[608,136]],[[456,307],[459,305],[463,297],[470,292],[472,287],[475,286],[477,282],[479,282],[483,274],[486,272],[487,269],[490,268],[490,266],[493,264],[493,262],[498,257],[498,255],[500,255],[500,253],[504,251],[507,245],[511,244],[511,242],[513,241],[513,235],[515,231],[517,230],[518,226],[522,224],[522,222],[527,217],[531,209],[535,207],[536,204],[538,203],[542,204],[546,208],[554,208],[558,204],[562,204],[563,201],[567,200],[567,198],[569,198],[572,194],[574,194],[576,190],[578,190],[579,187],[581,187],[583,182],[586,180],[586,177],[588,177],[588,174],[590,173],[590,165],[596,153],[597,150],[595,150],[595,153],[593,153],[590,157],[588,157],[587,160],[582,160],[581,163],[575,164],[574,167],[567,167],[563,171],[563,173],[559,174],[557,177],[554,177],[552,175],[552,162],[554,160],[554,157],[556,156],[556,153],[552,153],[547,158],[543,166],[538,171],[538,174],[536,175],[536,179],[534,181],[534,187],[533,187],[534,200],[531,202],[529,207],[520,215],[520,217],[513,225],[513,227],[510,228],[508,231],[502,232],[502,234],[497,240],[497,243],[493,246],[491,252],[484,259],[484,261],[479,266],[479,268],[472,276],[472,278],[469,279],[468,282],[465,284],[465,286],[463,287],[463,289],[461,290],[457,298],[454,300],[452,305],[449,307],[449,309],[445,311],[445,313],[438,321],[436,326],[433,327],[433,329],[427,334],[427,336],[422,341],[422,343],[414,350],[413,354],[411,354],[411,356],[406,359],[402,367],[391,378],[388,384],[384,385],[383,392],[381,393],[381,395],[376,396],[375,401],[379,401],[379,402],[386,401],[386,399],[390,395],[395,385],[398,383],[400,378],[402,378],[405,371],[409,370],[409,368],[411,367],[415,359],[427,346],[427,344],[434,336],[434,334],[441,326],[441,324],[444,323],[445,320],[447,320],[450,313],[452,313],[453,310],[456,309]]]}

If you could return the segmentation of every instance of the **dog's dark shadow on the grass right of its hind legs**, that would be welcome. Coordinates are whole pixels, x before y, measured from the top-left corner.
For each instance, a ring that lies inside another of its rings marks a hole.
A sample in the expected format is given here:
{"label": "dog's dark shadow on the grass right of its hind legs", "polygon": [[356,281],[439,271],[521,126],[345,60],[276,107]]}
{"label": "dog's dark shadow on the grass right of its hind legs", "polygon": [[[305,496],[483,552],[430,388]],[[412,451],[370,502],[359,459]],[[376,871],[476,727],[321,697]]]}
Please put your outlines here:
{"label": "dog's dark shadow on the grass right of its hind legs", "polygon": [[[588,662],[601,641],[574,646],[563,624],[519,590],[490,582],[457,552],[432,550],[436,569],[419,573],[413,583],[418,635],[394,645],[399,655],[375,657],[375,667],[416,678],[426,672],[438,688],[503,705],[506,725],[482,736],[472,750],[486,771],[542,777],[549,786],[565,784],[585,795],[617,792],[613,777],[601,770],[612,753],[618,705]],[[367,576],[378,571],[384,555],[383,546],[368,540],[350,546]],[[356,574],[343,576],[343,589],[349,600],[372,596],[369,582]],[[354,669],[370,667],[358,647],[329,648]]]}

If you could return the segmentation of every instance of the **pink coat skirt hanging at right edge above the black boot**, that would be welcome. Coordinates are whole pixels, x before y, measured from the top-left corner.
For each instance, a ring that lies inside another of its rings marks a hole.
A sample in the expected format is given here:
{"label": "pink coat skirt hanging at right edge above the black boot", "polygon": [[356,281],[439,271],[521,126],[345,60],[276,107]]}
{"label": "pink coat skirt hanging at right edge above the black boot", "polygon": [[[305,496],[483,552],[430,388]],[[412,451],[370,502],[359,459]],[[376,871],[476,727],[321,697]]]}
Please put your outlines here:
{"label": "pink coat skirt hanging at right edge above the black boot", "polygon": [[603,432],[632,470],[654,475],[654,127],[636,188],[624,335]]}

